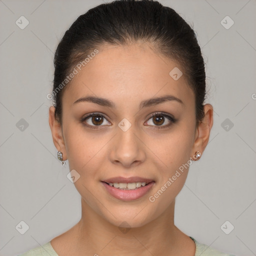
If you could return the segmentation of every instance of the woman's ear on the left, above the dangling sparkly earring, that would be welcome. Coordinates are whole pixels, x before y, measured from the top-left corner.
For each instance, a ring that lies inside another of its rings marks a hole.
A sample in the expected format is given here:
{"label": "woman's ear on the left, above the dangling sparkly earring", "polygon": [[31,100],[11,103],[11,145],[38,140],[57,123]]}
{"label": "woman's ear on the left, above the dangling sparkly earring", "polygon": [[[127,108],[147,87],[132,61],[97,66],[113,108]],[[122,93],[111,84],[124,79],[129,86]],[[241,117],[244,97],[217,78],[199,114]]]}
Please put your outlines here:
{"label": "woman's ear on the left, above the dangling sparkly earring", "polygon": [[61,124],[56,120],[54,116],[55,107],[49,108],[49,125],[51,129],[53,143],[58,151],[62,152],[63,160],[67,159],[65,142],[62,134]]}

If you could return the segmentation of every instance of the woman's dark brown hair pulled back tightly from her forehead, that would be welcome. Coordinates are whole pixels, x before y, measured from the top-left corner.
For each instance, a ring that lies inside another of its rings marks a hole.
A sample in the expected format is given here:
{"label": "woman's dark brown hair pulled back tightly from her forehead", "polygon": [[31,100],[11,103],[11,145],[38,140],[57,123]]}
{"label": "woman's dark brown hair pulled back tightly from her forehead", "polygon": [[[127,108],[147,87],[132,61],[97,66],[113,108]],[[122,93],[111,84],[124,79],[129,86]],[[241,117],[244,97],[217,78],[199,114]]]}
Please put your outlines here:
{"label": "woman's dark brown hair pulled back tightly from her forehead", "polygon": [[115,0],[97,5],[80,15],[66,30],[54,56],[55,118],[61,123],[63,81],[79,61],[106,43],[136,42],[148,43],[156,52],[180,65],[195,95],[198,123],[204,116],[205,70],[195,32],[175,10],[154,0]]}

